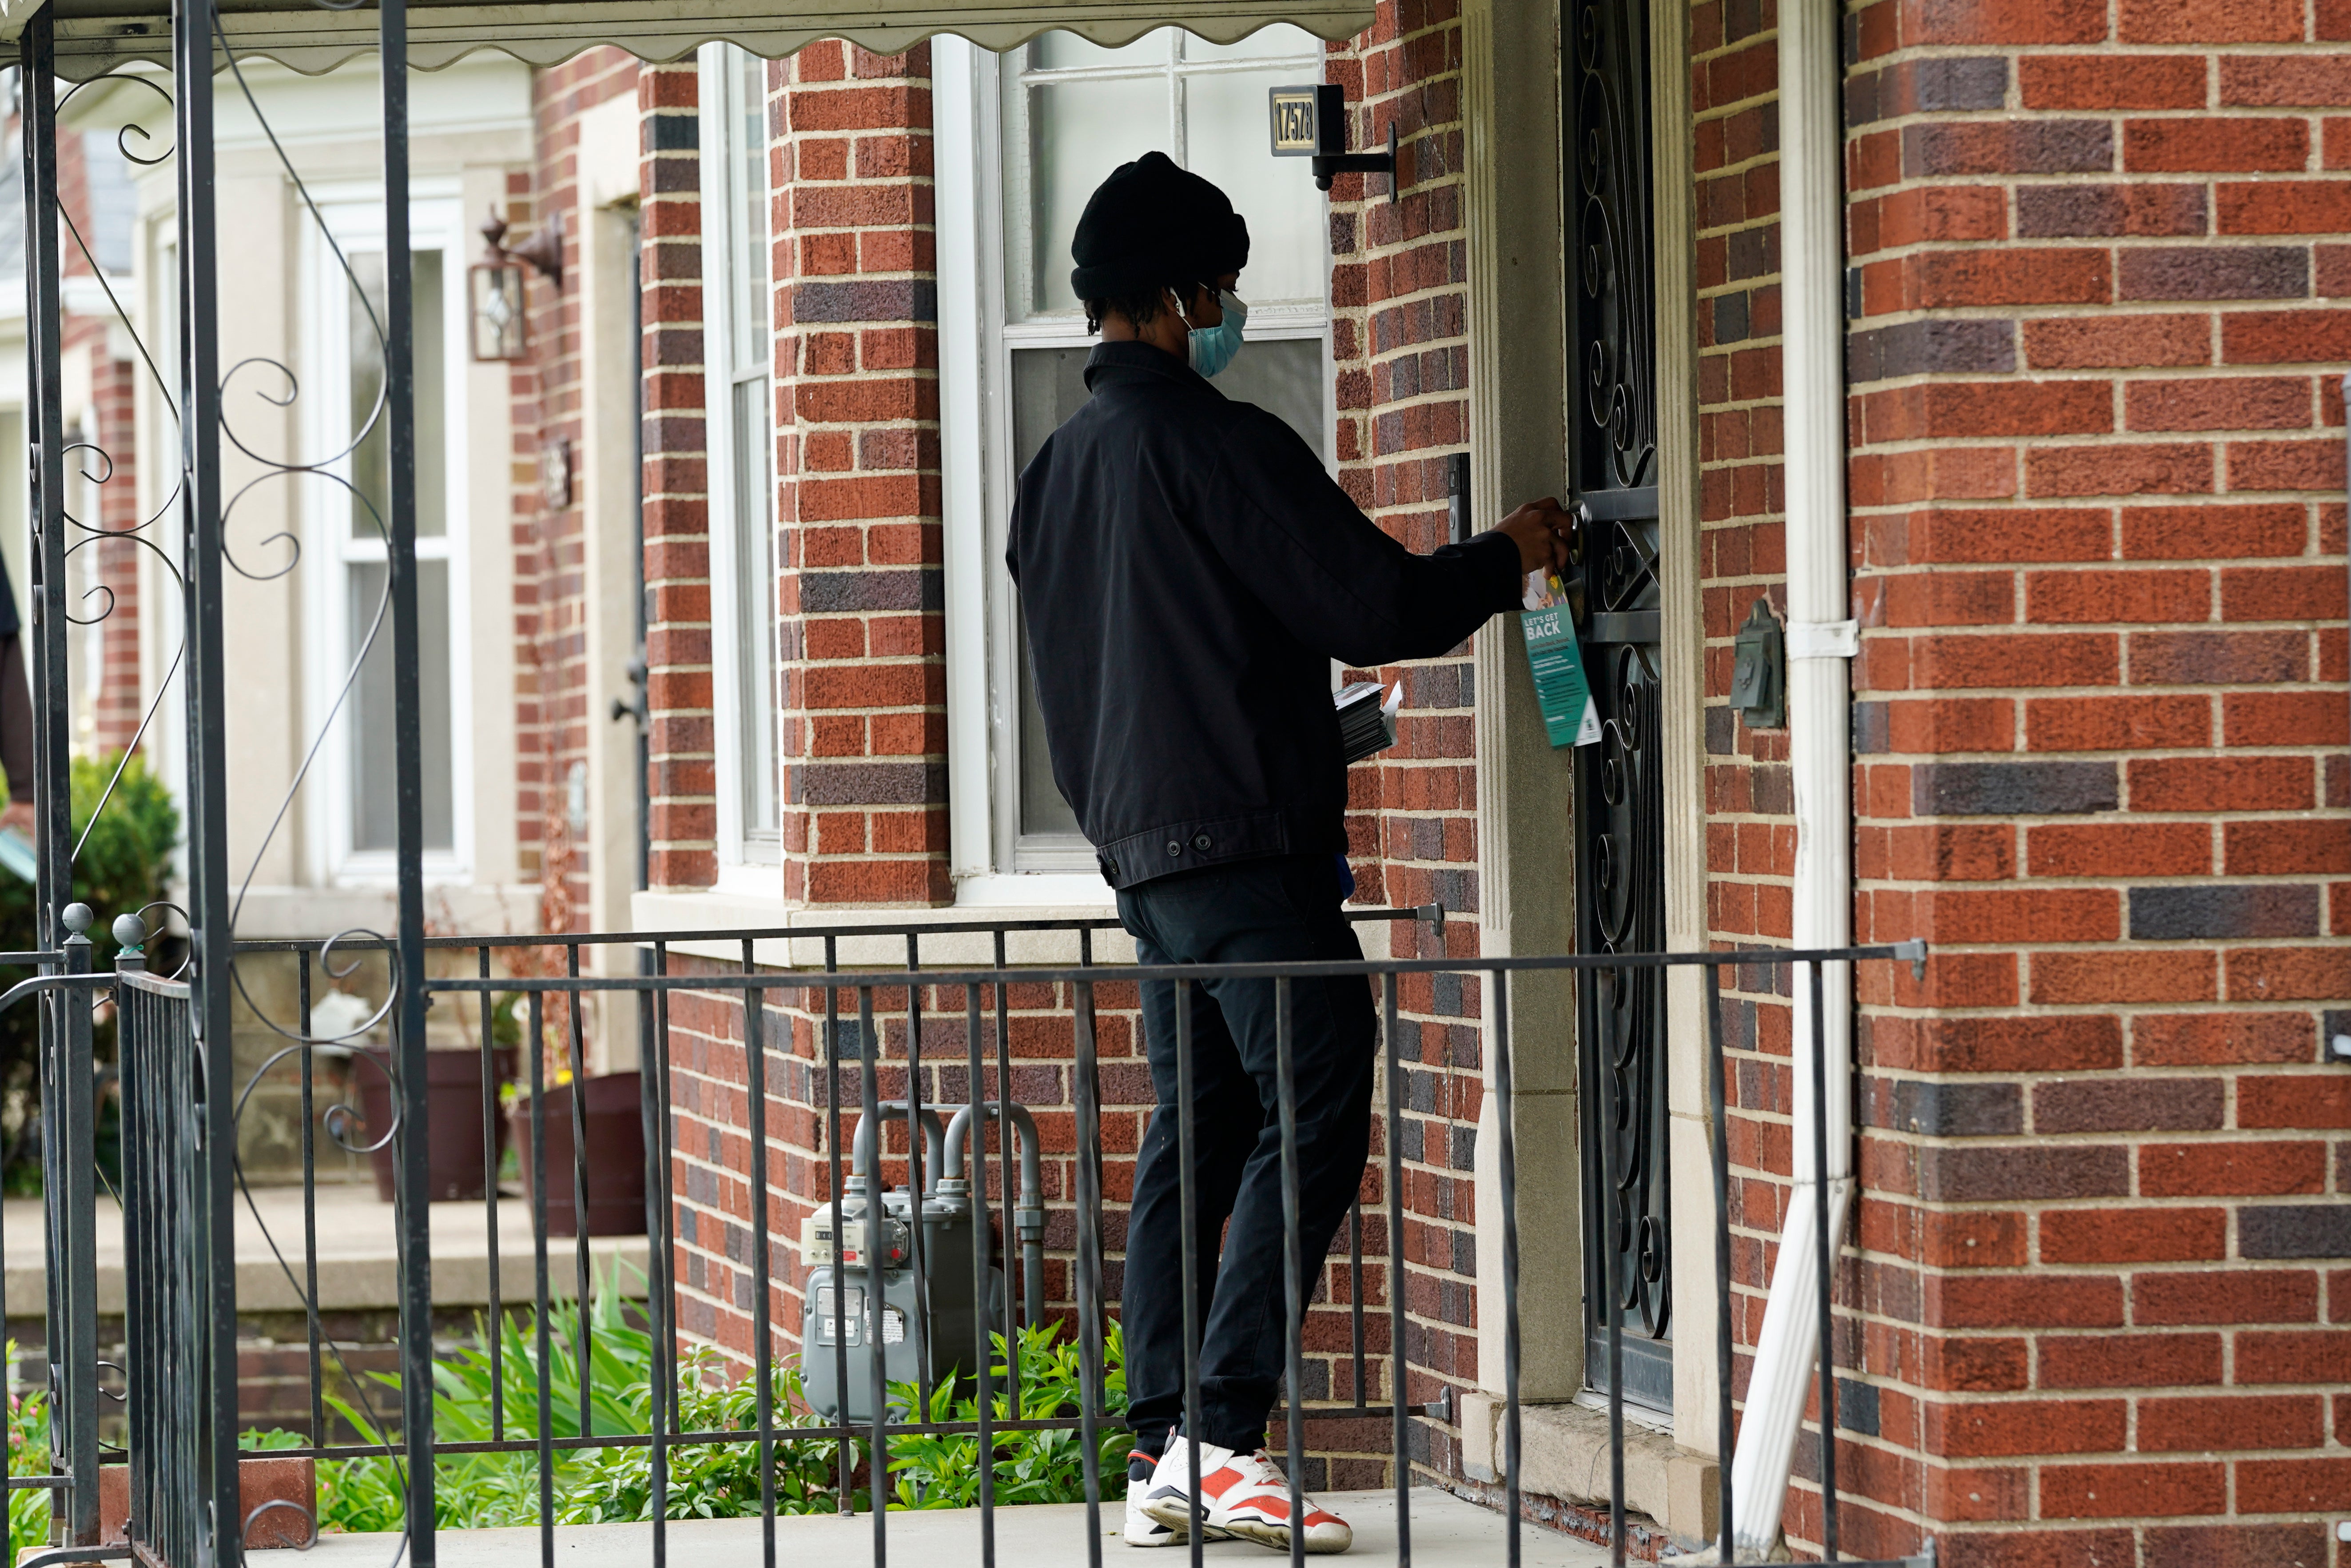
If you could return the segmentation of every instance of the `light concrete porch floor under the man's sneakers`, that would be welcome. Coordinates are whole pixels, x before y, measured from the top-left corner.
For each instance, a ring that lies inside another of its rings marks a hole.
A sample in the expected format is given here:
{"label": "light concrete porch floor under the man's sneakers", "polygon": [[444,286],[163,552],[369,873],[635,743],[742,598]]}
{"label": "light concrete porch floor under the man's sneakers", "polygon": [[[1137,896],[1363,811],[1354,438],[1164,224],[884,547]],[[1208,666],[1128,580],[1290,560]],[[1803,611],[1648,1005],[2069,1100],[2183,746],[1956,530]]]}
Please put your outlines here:
{"label": "light concrete porch floor under the man's sneakers", "polygon": [[[1394,1493],[1326,1493],[1326,1507],[1354,1526],[1349,1563],[1396,1561]],[[1413,1490],[1415,1568],[1495,1568],[1507,1561],[1500,1514],[1434,1488]],[[1119,1512],[1103,1509],[1105,1563],[1133,1561],[1176,1566],[1185,1552],[1133,1556],[1117,1540]],[[442,1568],[529,1568],[538,1563],[538,1530],[442,1530]],[[249,1552],[247,1568],[390,1568],[397,1535],[324,1535],[310,1552]],[[980,1561],[980,1512],[891,1514],[889,1556],[896,1563],[964,1568]],[[1281,1563],[1286,1554],[1251,1542],[1215,1542],[1215,1563]],[[557,1526],[555,1561],[562,1568],[644,1568],[654,1561],[654,1526]],[[682,1519],[670,1523],[670,1561],[691,1568],[757,1568],[757,1519]],[[776,1561],[792,1568],[858,1568],[872,1563],[872,1516],[813,1516],[776,1521]],[[1081,1568],[1086,1561],[1086,1509],[1079,1505],[997,1509],[997,1561],[1013,1568]],[[1523,1568],[1594,1568],[1608,1561],[1601,1547],[1554,1535],[1528,1523],[1521,1533]]]}

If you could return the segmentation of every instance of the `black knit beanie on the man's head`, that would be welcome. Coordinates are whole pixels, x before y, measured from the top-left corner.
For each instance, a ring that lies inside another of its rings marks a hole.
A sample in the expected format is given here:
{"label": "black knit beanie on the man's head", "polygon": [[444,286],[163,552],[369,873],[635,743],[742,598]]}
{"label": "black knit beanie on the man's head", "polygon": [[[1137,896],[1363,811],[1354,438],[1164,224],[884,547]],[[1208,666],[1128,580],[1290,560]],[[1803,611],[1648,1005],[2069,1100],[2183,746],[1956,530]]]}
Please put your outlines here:
{"label": "black knit beanie on the man's head", "polygon": [[1248,223],[1213,183],[1166,153],[1145,153],[1086,200],[1070,261],[1079,299],[1208,282],[1248,266]]}

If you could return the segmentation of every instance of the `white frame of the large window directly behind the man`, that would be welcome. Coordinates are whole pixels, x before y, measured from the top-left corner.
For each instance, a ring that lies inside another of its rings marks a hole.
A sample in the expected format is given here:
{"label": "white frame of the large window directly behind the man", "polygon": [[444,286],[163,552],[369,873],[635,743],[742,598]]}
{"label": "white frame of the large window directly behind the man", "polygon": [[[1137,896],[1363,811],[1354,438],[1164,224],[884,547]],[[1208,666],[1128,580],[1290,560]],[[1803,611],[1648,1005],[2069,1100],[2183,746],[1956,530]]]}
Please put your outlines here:
{"label": "white frame of the large window directly behind the man", "polygon": [[[1168,35],[1171,143],[1183,160],[1183,80],[1206,71],[1265,71],[1267,59],[1176,68]],[[1157,38],[1157,35],[1154,35]],[[1020,837],[1020,597],[1004,571],[1011,522],[1011,357],[1020,348],[1086,348],[1081,313],[1013,313],[1034,299],[1011,216],[1027,212],[1025,167],[1006,179],[1004,148],[1025,139],[1023,82],[1131,75],[1128,68],[1025,71],[1027,49],[987,54],[962,38],[931,40],[938,212],[940,463],[947,574],[947,823],[957,903],[1100,905],[1110,889],[1093,849]],[[1277,61],[1279,63],[1279,61]],[[1321,52],[1300,49],[1298,80],[1321,80]],[[1324,362],[1324,451],[1335,470],[1338,400],[1331,360],[1328,230],[1321,301],[1251,301],[1248,341],[1314,339]],[[1248,294],[1244,273],[1244,299]]]}

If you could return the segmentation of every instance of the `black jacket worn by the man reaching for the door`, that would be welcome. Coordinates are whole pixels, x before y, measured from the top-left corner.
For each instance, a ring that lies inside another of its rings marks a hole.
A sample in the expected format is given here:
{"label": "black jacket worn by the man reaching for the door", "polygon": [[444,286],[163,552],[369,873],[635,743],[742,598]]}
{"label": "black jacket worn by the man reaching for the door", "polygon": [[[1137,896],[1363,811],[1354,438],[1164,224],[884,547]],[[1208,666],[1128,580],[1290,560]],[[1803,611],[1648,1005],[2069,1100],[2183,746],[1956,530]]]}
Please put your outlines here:
{"label": "black jacket worn by the man reaching for the door", "polygon": [[1345,851],[1331,661],[1432,658],[1519,602],[1519,548],[1411,555],[1265,409],[1147,343],[1020,475],[1020,585],[1053,783],[1112,886]]}

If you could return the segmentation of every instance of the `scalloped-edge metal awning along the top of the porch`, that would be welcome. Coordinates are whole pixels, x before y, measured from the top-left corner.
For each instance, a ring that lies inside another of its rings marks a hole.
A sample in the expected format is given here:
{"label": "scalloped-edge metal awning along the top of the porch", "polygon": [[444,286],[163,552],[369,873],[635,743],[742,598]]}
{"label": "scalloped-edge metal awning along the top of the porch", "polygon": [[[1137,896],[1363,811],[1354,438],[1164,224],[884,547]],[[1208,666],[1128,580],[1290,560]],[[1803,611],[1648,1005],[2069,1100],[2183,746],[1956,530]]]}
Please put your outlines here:
{"label": "scalloped-edge metal awning along the top of the porch", "polygon": [[[132,61],[169,66],[169,0],[49,5],[56,14],[59,75],[85,80]],[[38,9],[40,0],[0,0],[0,40],[14,40]],[[501,49],[531,66],[555,66],[595,45],[614,45],[644,61],[672,61],[719,40],[778,56],[818,38],[898,54],[933,33],[957,33],[983,49],[1011,49],[1053,28],[1098,45],[1124,45],[1161,26],[1234,42],[1277,21],[1317,38],[1354,38],[1371,19],[1373,0],[411,0],[409,63],[433,71],[475,49]],[[371,5],[329,9],[310,0],[223,0],[221,24],[237,59],[273,59],[306,75],[376,47]]]}

